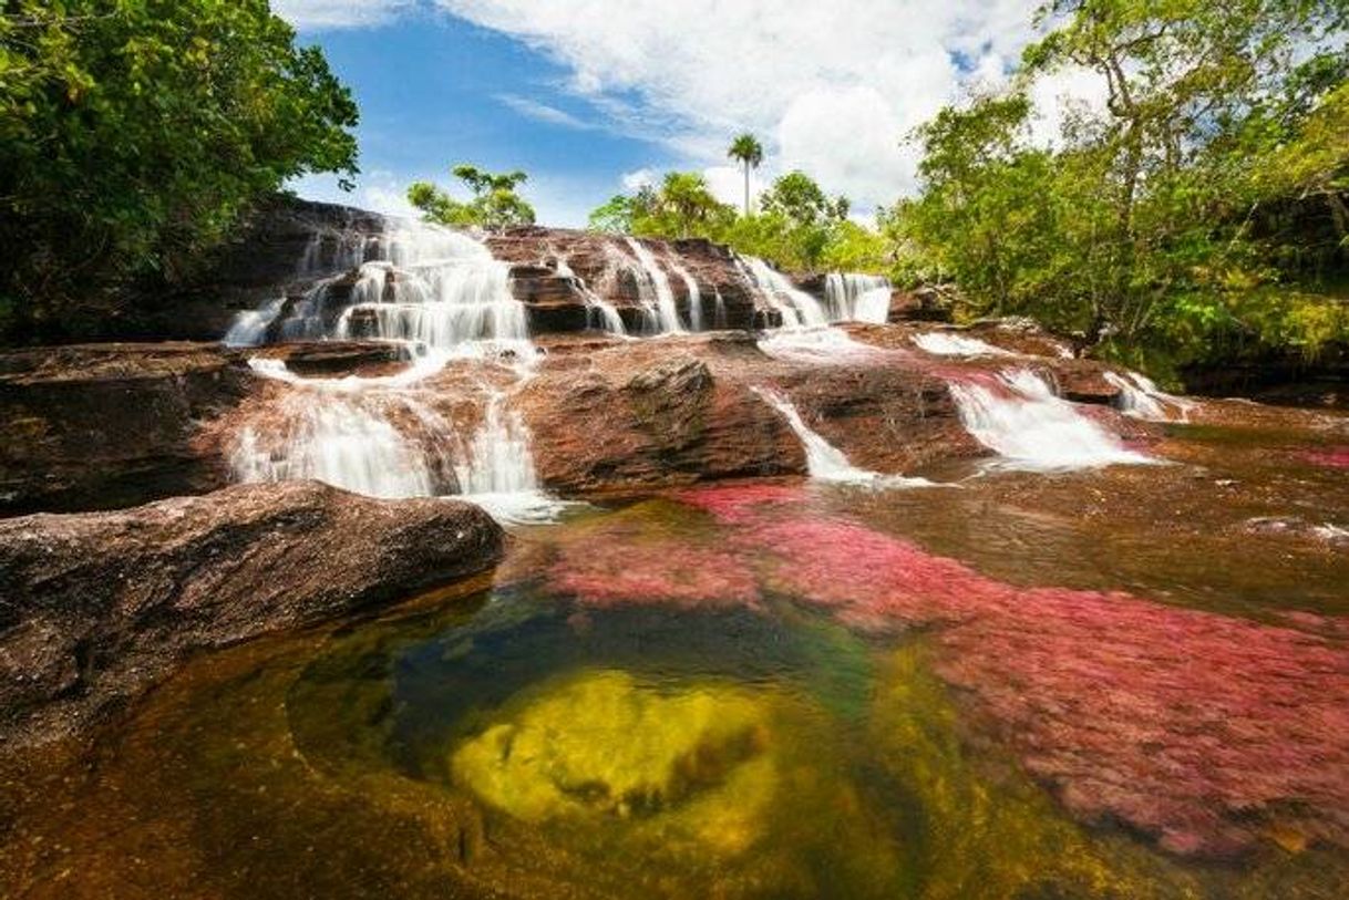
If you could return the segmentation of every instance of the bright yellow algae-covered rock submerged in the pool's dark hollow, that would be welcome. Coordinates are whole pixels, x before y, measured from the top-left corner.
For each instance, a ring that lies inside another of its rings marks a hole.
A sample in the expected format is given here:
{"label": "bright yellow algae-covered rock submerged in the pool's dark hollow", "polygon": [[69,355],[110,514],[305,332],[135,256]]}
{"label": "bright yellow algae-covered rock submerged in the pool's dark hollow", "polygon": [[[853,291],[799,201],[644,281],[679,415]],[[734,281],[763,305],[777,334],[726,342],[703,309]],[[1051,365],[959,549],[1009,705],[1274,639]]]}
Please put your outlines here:
{"label": "bright yellow algae-covered rock submerged in the pool's dark hollow", "polygon": [[456,781],[487,803],[526,822],[680,812],[730,853],[757,837],[777,779],[770,706],[749,691],[594,671],[513,707],[452,753]]}

